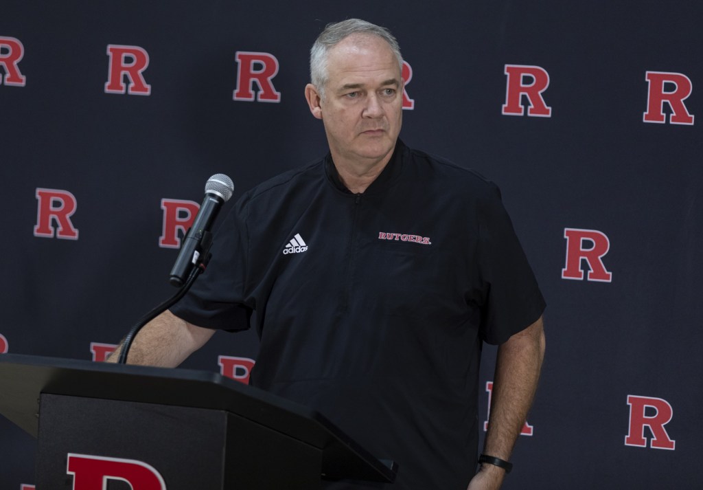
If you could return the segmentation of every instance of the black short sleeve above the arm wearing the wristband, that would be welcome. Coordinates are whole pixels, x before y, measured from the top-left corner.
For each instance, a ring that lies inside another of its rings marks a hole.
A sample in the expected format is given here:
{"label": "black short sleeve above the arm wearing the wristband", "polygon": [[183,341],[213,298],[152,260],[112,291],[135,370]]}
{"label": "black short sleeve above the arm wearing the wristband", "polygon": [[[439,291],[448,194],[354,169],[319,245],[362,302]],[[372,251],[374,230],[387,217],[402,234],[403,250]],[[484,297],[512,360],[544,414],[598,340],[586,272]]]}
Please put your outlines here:
{"label": "black short sleeve above the arm wearing the wristband", "polygon": [[485,291],[481,334],[489,344],[502,344],[536,322],[546,302],[494,184],[479,201],[478,219],[477,262]]}

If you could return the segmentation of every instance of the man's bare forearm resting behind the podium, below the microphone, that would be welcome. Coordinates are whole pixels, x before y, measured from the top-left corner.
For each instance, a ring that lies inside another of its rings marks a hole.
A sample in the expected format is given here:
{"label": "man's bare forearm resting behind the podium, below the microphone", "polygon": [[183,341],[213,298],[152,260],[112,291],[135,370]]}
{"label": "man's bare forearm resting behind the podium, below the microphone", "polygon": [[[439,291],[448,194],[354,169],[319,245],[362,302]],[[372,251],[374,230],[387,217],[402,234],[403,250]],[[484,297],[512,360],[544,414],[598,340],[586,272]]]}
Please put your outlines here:
{"label": "man's bare forearm resting behind the podium, below the microphone", "polygon": [[[181,320],[166,310],[136,334],[129,348],[127,364],[175,368],[193,352],[205,345],[213,329],[202,328]],[[116,363],[122,351],[122,344],[106,360]]]}

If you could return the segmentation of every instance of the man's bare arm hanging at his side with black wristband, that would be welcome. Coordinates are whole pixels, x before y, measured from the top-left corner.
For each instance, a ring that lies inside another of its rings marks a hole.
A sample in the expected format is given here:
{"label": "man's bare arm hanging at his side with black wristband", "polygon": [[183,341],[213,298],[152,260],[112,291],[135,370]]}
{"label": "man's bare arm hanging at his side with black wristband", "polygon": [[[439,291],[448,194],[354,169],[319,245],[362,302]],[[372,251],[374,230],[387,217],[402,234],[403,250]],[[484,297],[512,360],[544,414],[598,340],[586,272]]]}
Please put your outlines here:
{"label": "man's bare arm hanging at his side with black wristband", "polygon": [[[484,454],[510,460],[534,399],[544,349],[542,318],[498,346]],[[467,490],[497,490],[504,477],[503,468],[483,463]]]}

